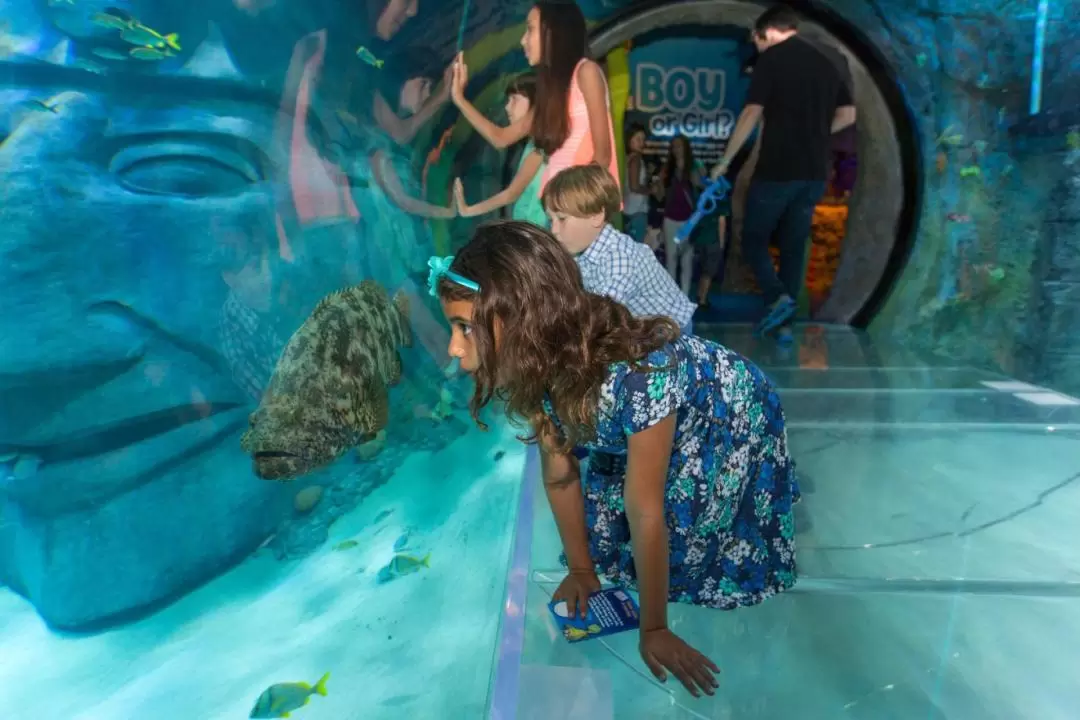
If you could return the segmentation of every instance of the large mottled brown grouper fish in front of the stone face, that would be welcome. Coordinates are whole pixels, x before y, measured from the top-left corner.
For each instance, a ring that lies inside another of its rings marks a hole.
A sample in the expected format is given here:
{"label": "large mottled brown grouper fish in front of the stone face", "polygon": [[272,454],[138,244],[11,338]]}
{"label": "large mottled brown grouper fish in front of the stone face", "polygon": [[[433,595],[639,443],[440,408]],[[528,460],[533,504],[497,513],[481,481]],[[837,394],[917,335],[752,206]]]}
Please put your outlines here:
{"label": "large mottled brown grouper fish in front of the stone face", "polygon": [[413,344],[408,301],[364,281],[320,301],[282,351],[240,447],[255,474],[291,480],[386,427],[399,350]]}

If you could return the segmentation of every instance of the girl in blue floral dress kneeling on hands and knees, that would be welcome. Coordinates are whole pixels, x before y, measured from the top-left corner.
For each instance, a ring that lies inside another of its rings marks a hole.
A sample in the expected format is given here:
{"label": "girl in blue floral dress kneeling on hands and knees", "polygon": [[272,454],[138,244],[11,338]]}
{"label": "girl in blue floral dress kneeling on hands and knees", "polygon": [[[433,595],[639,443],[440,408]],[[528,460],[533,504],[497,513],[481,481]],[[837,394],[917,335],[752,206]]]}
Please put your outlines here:
{"label": "girl in blue floral dress kneeling on hands and knees", "polygon": [[[769,380],[669,318],[586,293],[536,226],[482,226],[429,264],[449,354],[475,379],[473,418],[483,426],[498,397],[540,446],[569,568],[554,597],[583,615],[599,574],[636,588],[645,663],[712,694],[718,670],[667,629],[667,602],[727,610],[795,583],[798,490]],[[590,450],[583,477],[576,446]]]}

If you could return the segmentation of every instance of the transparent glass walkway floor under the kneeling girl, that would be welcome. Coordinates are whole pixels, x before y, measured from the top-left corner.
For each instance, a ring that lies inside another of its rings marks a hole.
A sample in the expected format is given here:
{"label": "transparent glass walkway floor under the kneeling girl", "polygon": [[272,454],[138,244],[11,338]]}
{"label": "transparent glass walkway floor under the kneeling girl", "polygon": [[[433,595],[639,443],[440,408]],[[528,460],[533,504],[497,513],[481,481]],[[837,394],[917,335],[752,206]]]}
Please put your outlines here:
{"label": "transparent glass walkway floor under the kneeling girl", "polygon": [[[1075,717],[1071,398],[1039,405],[1014,393],[1049,391],[921,364],[845,328],[801,329],[786,353],[748,328],[715,329],[698,328],[750,352],[781,388],[804,490],[799,583],[733,612],[670,606],[673,629],[723,669],[717,695],[694,699],[652,679],[636,633],[577,644],[556,633],[546,602],[561,545],[534,474],[517,703],[494,716]],[[819,354],[800,365],[808,343]]]}

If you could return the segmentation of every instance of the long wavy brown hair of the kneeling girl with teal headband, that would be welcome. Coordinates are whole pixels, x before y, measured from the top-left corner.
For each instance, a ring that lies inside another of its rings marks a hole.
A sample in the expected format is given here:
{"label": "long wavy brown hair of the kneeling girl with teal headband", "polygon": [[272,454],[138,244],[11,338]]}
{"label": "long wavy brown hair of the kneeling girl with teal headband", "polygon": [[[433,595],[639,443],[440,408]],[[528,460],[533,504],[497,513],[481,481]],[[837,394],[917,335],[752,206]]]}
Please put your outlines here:
{"label": "long wavy brown hair of the kneeling girl with teal headband", "polygon": [[[515,424],[558,451],[595,437],[600,385],[611,363],[638,363],[679,337],[667,317],[634,317],[613,300],[585,291],[570,254],[546,230],[502,220],[481,226],[450,270],[476,282],[473,293],[443,277],[444,301],[473,304],[472,338],[480,355],[470,403],[481,410],[504,400]],[[562,432],[544,412],[548,396]]]}

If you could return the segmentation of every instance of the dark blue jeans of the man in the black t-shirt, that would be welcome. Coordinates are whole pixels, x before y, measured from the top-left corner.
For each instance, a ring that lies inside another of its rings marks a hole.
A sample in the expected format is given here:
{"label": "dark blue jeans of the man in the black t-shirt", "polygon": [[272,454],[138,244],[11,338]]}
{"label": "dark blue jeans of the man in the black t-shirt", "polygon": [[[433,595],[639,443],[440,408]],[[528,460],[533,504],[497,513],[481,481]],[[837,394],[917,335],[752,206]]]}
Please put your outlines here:
{"label": "dark blue jeans of the man in the black t-shirt", "polygon": [[[819,180],[751,182],[743,215],[743,257],[761,287],[766,305],[782,295],[798,300],[813,208],[823,194],[825,184]],[[769,257],[772,239],[780,249],[779,277]]]}

